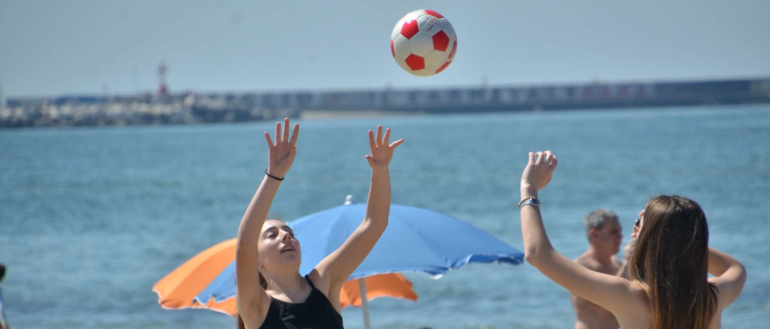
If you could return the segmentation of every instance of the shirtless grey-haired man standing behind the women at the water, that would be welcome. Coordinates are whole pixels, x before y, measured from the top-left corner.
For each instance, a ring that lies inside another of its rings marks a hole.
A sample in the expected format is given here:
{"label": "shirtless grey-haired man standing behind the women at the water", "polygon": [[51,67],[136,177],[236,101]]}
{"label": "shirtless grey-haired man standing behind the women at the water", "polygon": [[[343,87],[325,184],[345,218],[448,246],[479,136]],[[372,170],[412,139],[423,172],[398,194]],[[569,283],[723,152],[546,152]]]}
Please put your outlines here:
{"label": "shirtless grey-haired man standing behind the women at the water", "polygon": [[[586,234],[590,246],[575,261],[584,267],[601,273],[621,275],[628,268],[628,262],[621,263],[615,256],[620,251],[623,240],[622,227],[618,222],[618,214],[607,209],[591,211],[584,218]],[[629,243],[626,254],[631,256],[633,243]],[[586,301],[575,294],[570,294],[572,304],[577,315],[575,329],[618,329],[620,325],[610,311],[599,307],[597,304]]]}

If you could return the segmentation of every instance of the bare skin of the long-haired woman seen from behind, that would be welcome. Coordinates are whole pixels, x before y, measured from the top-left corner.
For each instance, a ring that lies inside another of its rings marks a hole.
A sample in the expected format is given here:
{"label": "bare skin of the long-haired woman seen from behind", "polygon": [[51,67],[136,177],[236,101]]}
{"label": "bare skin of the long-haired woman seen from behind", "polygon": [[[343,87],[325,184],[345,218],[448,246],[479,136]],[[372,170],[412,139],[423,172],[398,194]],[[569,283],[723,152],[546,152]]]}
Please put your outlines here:
{"label": "bare skin of the long-haired woman seen from behind", "polygon": [[[537,191],[551,182],[557,166],[551,151],[529,154],[527,168],[521,174],[521,199],[537,198]],[[640,227],[644,230],[644,218]],[[636,238],[634,231],[631,238]],[[647,292],[641,284],[624,277],[591,271],[554,250],[545,231],[539,207],[521,208],[521,235],[524,258],[542,274],[568,291],[598,304],[614,314],[623,329],[651,329],[651,309]],[[721,314],[743,290],[746,269],[730,255],[708,248],[708,282],[718,288],[717,307],[709,329],[721,328]]]}

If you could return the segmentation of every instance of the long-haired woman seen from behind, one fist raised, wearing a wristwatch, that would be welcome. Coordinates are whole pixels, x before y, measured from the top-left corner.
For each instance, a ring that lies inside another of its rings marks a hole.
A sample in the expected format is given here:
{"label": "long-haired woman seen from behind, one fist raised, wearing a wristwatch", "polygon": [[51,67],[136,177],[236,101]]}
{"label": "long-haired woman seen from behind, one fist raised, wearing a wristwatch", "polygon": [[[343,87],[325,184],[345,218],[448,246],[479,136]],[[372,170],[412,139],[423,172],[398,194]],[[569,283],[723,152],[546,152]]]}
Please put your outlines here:
{"label": "long-haired woman seen from behind, one fist raised, wearing a wristwatch", "polygon": [[[551,151],[530,152],[521,175],[521,234],[527,261],[557,284],[611,311],[624,329],[715,329],[743,290],[746,270],[708,247],[708,224],[688,198],[648,201],[634,226],[629,279],[588,270],[559,254],[545,232],[537,191],[557,166]],[[714,277],[708,277],[708,274]]]}

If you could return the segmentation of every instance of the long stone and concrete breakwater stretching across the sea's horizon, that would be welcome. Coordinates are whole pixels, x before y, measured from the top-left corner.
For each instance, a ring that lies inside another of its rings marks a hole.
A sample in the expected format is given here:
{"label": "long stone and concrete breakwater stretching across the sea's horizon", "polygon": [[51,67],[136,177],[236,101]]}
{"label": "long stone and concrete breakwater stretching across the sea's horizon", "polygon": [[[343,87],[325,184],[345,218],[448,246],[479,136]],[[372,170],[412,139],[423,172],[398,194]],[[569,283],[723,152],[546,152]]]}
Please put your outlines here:
{"label": "long stone and concrete breakwater stretching across the sea's horizon", "polygon": [[11,98],[0,128],[166,125],[383,114],[550,111],[770,102],[770,78],[712,81]]}

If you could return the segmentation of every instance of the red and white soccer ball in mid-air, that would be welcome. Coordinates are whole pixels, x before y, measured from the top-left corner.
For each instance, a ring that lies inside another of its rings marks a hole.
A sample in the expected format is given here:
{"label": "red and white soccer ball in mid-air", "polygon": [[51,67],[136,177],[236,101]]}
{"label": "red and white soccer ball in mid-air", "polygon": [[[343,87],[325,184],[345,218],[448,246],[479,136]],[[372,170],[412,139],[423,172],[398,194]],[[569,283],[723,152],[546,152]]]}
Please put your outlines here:
{"label": "red and white soccer ball in mid-air", "polygon": [[421,77],[435,75],[452,63],[457,52],[457,34],[441,14],[415,10],[393,28],[390,52],[404,71]]}

